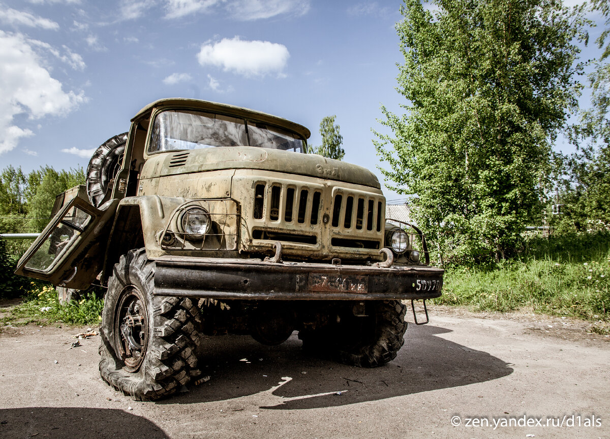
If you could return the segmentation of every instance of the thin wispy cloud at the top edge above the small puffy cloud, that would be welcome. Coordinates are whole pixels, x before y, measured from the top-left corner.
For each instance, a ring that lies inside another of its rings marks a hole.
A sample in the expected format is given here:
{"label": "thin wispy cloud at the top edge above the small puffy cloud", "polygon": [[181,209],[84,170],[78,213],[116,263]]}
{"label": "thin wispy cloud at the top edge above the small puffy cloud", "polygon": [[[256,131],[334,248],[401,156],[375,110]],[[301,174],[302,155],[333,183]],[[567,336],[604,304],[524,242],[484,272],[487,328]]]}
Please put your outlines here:
{"label": "thin wispy cloud at the top edge above the small puffy cloud", "polygon": [[227,4],[227,10],[233,18],[241,21],[281,14],[301,16],[309,12],[309,0],[234,0]]}

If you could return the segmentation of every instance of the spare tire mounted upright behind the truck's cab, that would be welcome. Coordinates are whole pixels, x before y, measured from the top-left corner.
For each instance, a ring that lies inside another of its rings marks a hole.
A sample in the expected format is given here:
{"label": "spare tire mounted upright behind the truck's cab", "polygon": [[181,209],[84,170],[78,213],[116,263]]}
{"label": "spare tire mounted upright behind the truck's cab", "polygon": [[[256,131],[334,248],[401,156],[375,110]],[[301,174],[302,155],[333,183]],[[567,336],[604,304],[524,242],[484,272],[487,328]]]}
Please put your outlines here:
{"label": "spare tire mounted upright behind the truck's cab", "polygon": [[112,192],[111,181],[123,162],[127,133],[119,134],[102,143],[93,153],[87,166],[87,195],[91,204],[99,207]]}

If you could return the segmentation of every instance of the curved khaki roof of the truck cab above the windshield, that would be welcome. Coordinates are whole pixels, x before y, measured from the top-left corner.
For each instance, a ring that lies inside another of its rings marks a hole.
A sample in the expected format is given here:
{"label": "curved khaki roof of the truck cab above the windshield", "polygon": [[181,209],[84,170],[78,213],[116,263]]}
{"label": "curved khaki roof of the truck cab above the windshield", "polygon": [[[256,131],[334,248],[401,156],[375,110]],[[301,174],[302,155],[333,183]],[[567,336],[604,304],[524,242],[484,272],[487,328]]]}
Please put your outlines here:
{"label": "curved khaki roof of the truck cab above the windshield", "polygon": [[239,118],[254,120],[257,122],[264,122],[266,124],[275,125],[276,127],[290,130],[297,134],[300,134],[304,138],[308,139],[311,135],[309,129],[303,125],[295,124],[287,119],[278,118],[278,116],[272,116],[271,114],[262,113],[262,111],[250,110],[249,108],[235,107],[235,105],[220,104],[218,102],[210,102],[209,100],[199,99],[186,99],[181,97],[171,97],[167,99],[159,99],[151,104],[146,105],[142,110],[131,119],[132,122],[138,119],[144,119],[150,117],[154,108],[164,108],[167,110],[195,110],[195,111],[209,111],[210,113],[221,113],[227,116],[235,116]]}

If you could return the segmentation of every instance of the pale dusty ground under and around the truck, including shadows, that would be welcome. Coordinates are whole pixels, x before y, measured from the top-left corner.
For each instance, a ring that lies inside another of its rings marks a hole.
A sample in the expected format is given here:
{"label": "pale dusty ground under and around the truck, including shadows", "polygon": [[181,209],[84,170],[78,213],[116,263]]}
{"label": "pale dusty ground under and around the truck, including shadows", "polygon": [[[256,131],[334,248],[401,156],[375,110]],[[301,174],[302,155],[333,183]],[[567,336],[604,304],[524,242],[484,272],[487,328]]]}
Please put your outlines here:
{"label": "pale dusty ground under and around the truck, including shadows", "polygon": [[373,370],[306,356],[296,335],[213,337],[210,380],[159,402],[99,379],[99,337],[0,332],[2,438],[610,437],[610,340],[578,321],[437,308]]}

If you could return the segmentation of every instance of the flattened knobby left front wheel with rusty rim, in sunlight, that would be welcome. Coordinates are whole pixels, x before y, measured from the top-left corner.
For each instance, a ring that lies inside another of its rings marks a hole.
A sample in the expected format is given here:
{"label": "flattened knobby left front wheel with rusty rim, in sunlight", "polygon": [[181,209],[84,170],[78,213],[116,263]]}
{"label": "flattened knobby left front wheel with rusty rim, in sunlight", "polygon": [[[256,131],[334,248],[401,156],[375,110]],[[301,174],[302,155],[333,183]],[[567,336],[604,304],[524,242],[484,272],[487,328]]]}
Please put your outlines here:
{"label": "flattened knobby left front wheel with rusty rim, in sunlight", "polygon": [[199,309],[188,298],[154,296],[154,269],[143,248],[121,256],[102,312],[102,379],[140,401],[171,395],[201,373]]}

